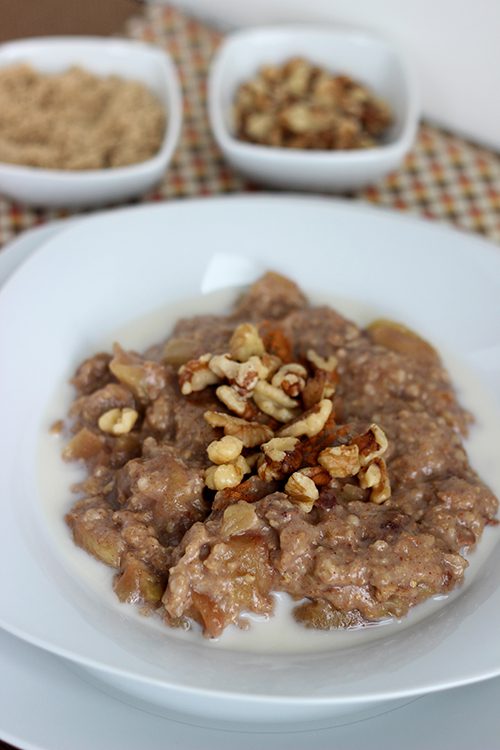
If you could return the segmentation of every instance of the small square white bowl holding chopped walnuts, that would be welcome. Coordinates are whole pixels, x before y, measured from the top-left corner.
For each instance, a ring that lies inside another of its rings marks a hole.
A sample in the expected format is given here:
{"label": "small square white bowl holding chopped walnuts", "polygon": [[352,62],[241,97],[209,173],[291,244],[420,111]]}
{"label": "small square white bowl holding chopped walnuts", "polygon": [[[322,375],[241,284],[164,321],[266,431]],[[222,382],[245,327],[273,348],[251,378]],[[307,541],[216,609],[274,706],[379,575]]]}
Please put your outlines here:
{"label": "small square white bowl holding chopped walnuts", "polygon": [[[395,117],[387,142],[369,149],[306,151],[238,140],[232,118],[238,86],[261,65],[296,56],[346,73],[385,99]],[[228,162],[256,182],[299,190],[348,191],[376,182],[409,151],[418,121],[417,86],[408,60],[378,37],[345,29],[301,25],[232,34],[212,63],[208,97],[213,134]]]}

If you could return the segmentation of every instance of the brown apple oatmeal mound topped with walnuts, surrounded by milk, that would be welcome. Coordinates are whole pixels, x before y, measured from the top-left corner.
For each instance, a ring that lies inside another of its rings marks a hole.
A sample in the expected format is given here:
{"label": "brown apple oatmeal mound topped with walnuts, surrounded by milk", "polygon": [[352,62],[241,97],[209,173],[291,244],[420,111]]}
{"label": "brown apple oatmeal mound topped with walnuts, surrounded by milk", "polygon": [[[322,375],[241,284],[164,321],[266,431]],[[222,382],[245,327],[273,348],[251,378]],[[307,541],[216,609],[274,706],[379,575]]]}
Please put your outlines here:
{"label": "brown apple oatmeal mound topped with walnuts, surrounded by milk", "polygon": [[459,585],[495,523],[436,351],[277,274],[144,355],[96,354],[73,385],[75,542],[170,626],[217,637],[271,615],[274,592],[306,627],[399,618]]}

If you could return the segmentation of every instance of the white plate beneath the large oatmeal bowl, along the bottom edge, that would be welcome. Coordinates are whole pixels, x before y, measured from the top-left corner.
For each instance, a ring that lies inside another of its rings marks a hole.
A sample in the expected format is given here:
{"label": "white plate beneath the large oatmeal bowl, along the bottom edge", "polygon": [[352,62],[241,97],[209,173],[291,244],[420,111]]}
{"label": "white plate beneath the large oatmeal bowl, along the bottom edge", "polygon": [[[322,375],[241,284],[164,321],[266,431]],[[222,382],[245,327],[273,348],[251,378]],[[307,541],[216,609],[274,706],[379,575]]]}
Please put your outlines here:
{"label": "white plate beneath the large oatmeal bowl, along the bottom edge", "polygon": [[[23,750],[496,750],[500,678],[367,721],[310,732],[227,732],[168,721],[97,690],[61,659],[0,632],[0,737]],[[29,717],[29,719],[27,718]]]}

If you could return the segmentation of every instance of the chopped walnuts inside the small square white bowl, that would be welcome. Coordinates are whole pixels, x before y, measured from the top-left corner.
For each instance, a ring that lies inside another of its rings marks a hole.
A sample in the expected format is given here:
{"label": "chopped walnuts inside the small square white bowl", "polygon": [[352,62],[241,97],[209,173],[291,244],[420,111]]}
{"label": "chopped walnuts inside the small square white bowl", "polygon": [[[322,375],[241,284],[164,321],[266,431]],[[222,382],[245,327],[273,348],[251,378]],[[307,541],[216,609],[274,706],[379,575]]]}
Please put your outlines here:
{"label": "chopped walnuts inside the small square white bowl", "polygon": [[238,88],[233,110],[237,138],[285,148],[370,148],[392,124],[367,86],[298,57],[261,67]]}

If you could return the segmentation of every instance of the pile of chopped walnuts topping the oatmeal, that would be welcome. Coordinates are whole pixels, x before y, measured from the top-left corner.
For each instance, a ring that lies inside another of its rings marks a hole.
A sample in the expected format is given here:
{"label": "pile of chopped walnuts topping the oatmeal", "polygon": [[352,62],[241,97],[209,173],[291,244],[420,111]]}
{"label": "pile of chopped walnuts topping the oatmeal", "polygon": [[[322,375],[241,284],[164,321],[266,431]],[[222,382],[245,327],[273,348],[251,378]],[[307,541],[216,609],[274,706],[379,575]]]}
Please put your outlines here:
{"label": "pile of chopped walnuts topping the oatmeal", "polygon": [[[233,412],[205,412],[209,425],[224,430],[224,437],[207,447],[214,464],[205,472],[207,487],[217,492],[232,490],[246,474],[255,472],[255,478],[269,486],[285,482],[285,491],[294,502],[311,510],[319,497],[318,487],[321,505],[327,507],[342,492],[333,486],[335,480],[358,476],[359,484],[352,487],[361,493],[360,499],[365,496],[363,490],[370,489],[370,499],[383,502],[390,495],[385,463],[380,463],[387,449],[383,430],[372,424],[349,444],[331,444],[339,434],[337,428],[326,428],[327,423],[335,426],[329,396],[338,380],[336,357],[324,358],[310,349],[307,358],[314,368],[310,377],[306,367],[290,361],[292,349],[285,352],[281,346],[286,339],[281,329],[266,329],[269,345],[274,346],[276,336],[283,358],[265,351],[255,326],[244,323],[234,331],[230,353],[205,354],[179,370],[183,393],[217,384],[217,397]],[[255,421],[258,409],[261,417],[283,423],[277,436],[268,425]],[[260,450],[243,455],[244,448],[255,447]]]}

